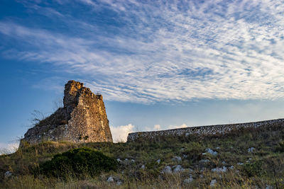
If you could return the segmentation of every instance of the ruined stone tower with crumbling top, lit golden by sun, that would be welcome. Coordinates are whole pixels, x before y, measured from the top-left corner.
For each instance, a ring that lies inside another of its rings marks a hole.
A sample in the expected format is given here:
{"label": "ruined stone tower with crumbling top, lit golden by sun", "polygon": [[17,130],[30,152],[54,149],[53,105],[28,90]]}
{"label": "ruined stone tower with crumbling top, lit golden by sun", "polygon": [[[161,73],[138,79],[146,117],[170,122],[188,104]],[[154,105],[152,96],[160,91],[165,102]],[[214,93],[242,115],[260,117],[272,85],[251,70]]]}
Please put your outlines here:
{"label": "ruined stone tower with crumbling top, lit golden by sun", "polygon": [[42,141],[112,142],[102,95],[77,81],[65,84],[63,108],[26,132],[20,147]]}

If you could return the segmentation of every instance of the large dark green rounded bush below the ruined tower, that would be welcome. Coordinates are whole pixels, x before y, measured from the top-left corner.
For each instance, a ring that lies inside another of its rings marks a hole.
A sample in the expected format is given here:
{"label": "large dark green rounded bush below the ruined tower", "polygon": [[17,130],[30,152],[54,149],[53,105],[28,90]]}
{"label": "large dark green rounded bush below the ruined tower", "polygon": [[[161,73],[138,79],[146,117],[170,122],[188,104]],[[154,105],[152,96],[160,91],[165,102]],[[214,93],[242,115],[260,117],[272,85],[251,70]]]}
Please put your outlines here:
{"label": "large dark green rounded bush below the ruined tower", "polygon": [[117,164],[115,159],[105,156],[102,152],[81,147],[56,154],[53,159],[40,165],[40,171],[46,176],[82,178],[86,175],[97,176],[102,171],[115,170]]}

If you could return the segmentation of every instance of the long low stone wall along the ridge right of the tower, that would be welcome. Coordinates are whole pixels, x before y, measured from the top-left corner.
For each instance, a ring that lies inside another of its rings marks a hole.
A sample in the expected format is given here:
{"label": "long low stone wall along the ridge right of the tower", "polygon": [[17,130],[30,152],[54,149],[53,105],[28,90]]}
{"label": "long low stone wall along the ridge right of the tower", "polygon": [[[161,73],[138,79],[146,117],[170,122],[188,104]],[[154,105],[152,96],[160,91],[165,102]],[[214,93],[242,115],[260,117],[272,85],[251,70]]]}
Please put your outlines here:
{"label": "long low stone wall along the ridge right of the tower", "polygon": [[209,126],[199,126],[199,127],[186,127],[175,130],[160,130],[153,132],[133,132],[129,133],[127,137],[127,142],[133,142],[138,138],[151,139],[157,136],[188,136],[190,134],[195,134],[196,136],[201,135],[214,135],[214,134],[227,134],[231,130],[241,130],[243,128],[257,128],[257,127],[271,127],[273,125],[283,125],[284,119],[278,120],[266,120],[261,122],[246,122],[246,123],[237,123],[229,125],[209,125]]}

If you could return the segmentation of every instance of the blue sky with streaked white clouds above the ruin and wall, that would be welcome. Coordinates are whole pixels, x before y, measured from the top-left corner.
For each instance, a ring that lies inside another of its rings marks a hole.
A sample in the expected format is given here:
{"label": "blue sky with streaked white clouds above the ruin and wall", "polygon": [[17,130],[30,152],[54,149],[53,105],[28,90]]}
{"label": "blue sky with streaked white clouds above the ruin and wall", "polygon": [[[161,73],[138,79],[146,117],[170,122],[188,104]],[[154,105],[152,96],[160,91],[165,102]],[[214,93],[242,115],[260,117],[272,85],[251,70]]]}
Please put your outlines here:
{"label": "blue sky with streaked white clouds above the ruin and wall", "polygon": [[1,0],[0,148],[64,85],[102,93],[111,132],[284,118],[284,1]]}

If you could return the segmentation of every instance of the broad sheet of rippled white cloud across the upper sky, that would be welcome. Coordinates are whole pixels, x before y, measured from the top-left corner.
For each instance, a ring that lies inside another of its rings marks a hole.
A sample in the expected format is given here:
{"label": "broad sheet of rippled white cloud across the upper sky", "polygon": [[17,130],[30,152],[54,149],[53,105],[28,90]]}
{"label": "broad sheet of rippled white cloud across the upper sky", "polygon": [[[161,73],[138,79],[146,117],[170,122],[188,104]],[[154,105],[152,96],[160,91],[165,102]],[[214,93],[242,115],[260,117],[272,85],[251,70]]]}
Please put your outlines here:
{"label": "broad sheet of rippled white cloud across the upper sky", "polygon": [[284,96],[284,4],[279,1],[81,1],[94,11],[115,11],[124,25],[106,34],[87,18],[74,23],[65,18],[88,36],[75,38],[0,21],[2,35],[28,47],[2,55],[79,74],[109,101]]}

